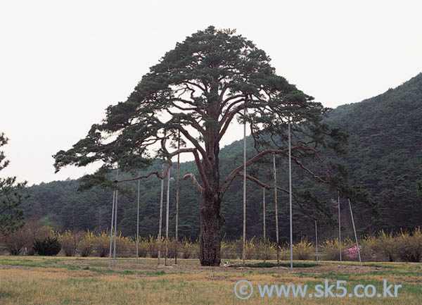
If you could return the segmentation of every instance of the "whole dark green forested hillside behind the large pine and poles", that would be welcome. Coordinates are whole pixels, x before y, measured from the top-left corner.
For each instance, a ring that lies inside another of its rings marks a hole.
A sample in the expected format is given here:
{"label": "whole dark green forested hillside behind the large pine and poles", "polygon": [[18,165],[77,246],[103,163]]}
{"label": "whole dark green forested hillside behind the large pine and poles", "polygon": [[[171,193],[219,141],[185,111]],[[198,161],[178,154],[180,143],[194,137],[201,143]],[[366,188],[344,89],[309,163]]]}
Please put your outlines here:
{"label": "whole dark green forested hillside behind the large pine and poles", "polygon": [[[395,89],[356,104],[347,104],[328,113],[326,123],[350,135],[347,155],[325,157],[343,163],[353,185],[366,189],[378,203],[380,216],[373,218],[364,206],[354,206],[354,217],[360,234],[381,228],[399,231],[422,225],[422,194],[418,182],[422,180],[422,73]],[[248,150],[253,141],[248,139]],[[220,152],[221,177],[242,162],[243,142],[224,147]],[[269,160],[268,160],[269,161]],[[278,182],[288,188],[287,160],[277,161]],[[261,176],[271,180],[271,164],[262,163],[258,168]],[[160,164],[153,164],[160,170]],[[293,192],[305,189],[319,190],[312,180],[305,178],[293,167]],[[148,170],[149,171],[149,170]],[[181,177],[196,173],[193,162],[181,163]],[[143,173],[146,173],[144,171]],[[175,178],[176,170],[172,170]],[[142,173],[123,173],[120,178],[133,178]],[[110,180],[113,180],[110,177]],[[28,187],[31,194],[23,204],[27,218],[41,219],[57,230],[107,230],[110,226],[111,189],[94,187],[78,192],[81,180],[54,181]],[[136,183],[126,182],[125,192],[120,192],[118,230],[123,235],[136,233]],[[170,232],[174,231],[175,182],[170,188]],[[275,237],[274,193],[267,190],[267,235]],[[199,235],[200,198],[190,181],[180,180],[179,236],[196,239]],[[321,190],[321,201],[336,200],[335,192]],[[288,237],[288,196],[279,192],[279,222],[281,241]],[[226,239],[237,239],[242,234],[242,178],[236,178],[222,202],[225,223],[222,232]],[[247,236],[262,235],[262,188],[248,182]],[[160,180],[155,176],[141,180],[140,234],[158,234],[160,204]],[[165,206],[165,205],[164,205]],[[296,204],[293,206],[294,238],[314,235],[314,220],[305,216]],[[350,212],[347,199],[342,199],[342,225],[351,233]],[[163,211],[165,213],[165,211]],[[336,215],[333,203],[333,215]],[[335,229],[320,223],[321,237],[335,235]]]}

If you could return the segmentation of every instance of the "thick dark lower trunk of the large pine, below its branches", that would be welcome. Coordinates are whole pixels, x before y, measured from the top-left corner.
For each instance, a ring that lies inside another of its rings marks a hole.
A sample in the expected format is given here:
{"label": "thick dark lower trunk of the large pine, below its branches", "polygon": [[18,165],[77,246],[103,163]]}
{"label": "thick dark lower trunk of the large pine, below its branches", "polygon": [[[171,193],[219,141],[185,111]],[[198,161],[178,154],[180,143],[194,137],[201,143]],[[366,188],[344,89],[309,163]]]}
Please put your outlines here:
{"label": "thick dark lower trunk of the large pine, below its branches", "polygon": [[219,266],[221,262],[221,228],[224,222],[220,208],[221,199],[215,194],[203,194],[200,209],[200,264]]}

